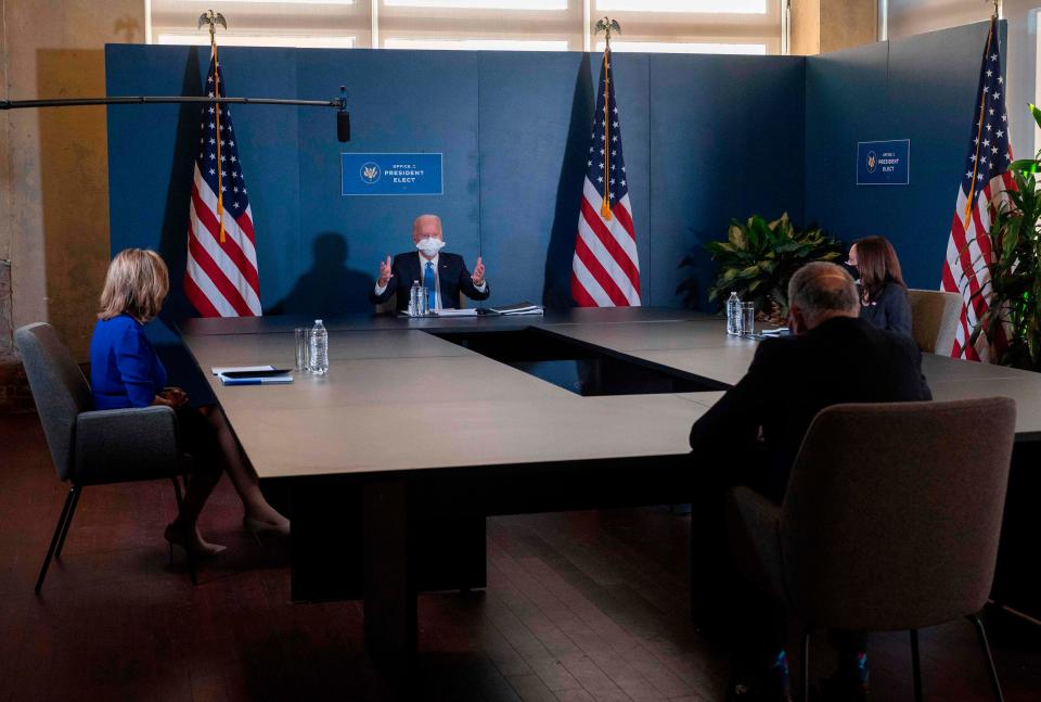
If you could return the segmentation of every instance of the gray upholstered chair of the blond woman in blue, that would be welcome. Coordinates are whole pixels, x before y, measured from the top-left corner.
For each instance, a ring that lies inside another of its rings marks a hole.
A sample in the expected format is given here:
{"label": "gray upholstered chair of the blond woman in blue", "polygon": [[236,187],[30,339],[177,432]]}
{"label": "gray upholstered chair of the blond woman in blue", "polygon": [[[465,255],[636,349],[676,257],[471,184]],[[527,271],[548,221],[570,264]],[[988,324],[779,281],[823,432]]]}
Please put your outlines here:
{"label": "gray upholstered chair of the blond woman in blue", "polygon": [[[90,386],[50,324],[22,327],[14,343],[25,365],[47,446],[57,477],[70,488],[54,528],[36,591],[54,556],[61,558],[82,488],[131,481],[174,481],[178,513],[181,511],[179,474],[185,474],[189,459],[178,443],[177,416],[169,407],[92,411]],[[184,535],[188,538],[188,534]],[[191,551],[188,566],[195,583]]]}

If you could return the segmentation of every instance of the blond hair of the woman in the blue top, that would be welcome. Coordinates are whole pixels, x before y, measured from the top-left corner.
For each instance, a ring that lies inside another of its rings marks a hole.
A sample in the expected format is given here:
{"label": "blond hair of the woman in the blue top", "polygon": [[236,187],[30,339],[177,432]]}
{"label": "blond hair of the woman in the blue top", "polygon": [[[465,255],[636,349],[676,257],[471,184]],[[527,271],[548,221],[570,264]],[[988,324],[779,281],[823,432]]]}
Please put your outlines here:
{"label": "blond hair of the woman in the blue top", "polygon": [[169,291],[170,273],[157,253],[125,248],[108,264],[98,319],[112,319],[126,312],[145,323],[159,314]]}

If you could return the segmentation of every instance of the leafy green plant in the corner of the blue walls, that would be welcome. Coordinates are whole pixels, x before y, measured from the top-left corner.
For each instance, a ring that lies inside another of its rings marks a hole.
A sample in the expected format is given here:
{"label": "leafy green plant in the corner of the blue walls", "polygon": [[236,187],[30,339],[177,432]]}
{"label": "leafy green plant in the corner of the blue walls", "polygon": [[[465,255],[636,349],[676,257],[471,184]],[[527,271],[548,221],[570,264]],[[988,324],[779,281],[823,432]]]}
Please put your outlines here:
{"label": "leafy green plant in the corner of the blue walls", "polygon": [[736,292],[755,303],[758,315],[784,320],[788,315],[788,280],[811,260],[835,260],[841,244],[819,227],[798,230],[788,214],[767,221],[754,215],[745,222],[731,220],[727,241],[705,244],[719,267],[708,298],[724,301]]}

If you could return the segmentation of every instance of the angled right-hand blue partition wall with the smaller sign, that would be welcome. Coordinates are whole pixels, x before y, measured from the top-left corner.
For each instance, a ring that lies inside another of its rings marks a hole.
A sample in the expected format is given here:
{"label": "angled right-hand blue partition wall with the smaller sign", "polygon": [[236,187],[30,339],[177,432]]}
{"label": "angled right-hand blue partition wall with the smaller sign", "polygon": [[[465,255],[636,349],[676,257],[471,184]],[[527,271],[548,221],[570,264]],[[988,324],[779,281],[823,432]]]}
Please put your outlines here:
{"label": "angled right-hand blue partition wall with the smaller sign", "polygon": [[[807,60],[806,219],[846,242],[886,237],[912,288],[939,288],[987,31],[974,24]],[[857,186],[857,142],[888,139],[911,140],[910,183]]]}

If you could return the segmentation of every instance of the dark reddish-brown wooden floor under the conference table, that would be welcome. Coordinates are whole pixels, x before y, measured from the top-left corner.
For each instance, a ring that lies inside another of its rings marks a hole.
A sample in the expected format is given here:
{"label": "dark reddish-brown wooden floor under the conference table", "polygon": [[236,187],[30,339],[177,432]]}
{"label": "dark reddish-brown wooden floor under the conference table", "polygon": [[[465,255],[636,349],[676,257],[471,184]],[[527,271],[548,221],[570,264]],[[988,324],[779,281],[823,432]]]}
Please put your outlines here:
{"label": "dark reddish-brown wooden floor under the conference table", "polygon": [[[422,597],[404,672],[364,656],[358,603],[288,601],[285,546],[242,533],[227,481],[202,526],[229,551],[192,587],[180,554],[167,565],[171,493],[88,488],[36,597],[65,486],[36,418],[0,418],[0,702],[721,699],[729,651],[689,624],[689,521],[666,509],[489,520],[487,591]],[[1006,699],[1041,700],[1041,628],[988,623]],[[922,646],[928,699],[991,699],[967,624]],[[873,635],[871,661],[873,699],[912,698],[905,635]]]}

